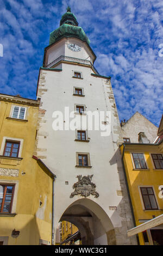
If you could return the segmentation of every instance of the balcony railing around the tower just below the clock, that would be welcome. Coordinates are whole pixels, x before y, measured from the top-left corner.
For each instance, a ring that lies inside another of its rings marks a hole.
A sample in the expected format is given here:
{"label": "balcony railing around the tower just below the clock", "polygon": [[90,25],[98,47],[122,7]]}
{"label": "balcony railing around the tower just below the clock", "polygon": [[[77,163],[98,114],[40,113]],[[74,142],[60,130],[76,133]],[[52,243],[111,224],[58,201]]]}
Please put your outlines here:
{"label": "balcony railing around the tower just below the clock", "polygon": [[64,55],[62,55],[59,58],[53,60],[53,62],[49,63],[46,66],[46,68],[51,68],[55,64],[59,63],[61,60],[64,60],[65,62],[75,62],[75,63],[79,63],[79,64],[84,64],[84,65],[92,66],[92,68],[97,72],[97,74],[99,74],[98,71],[95,69],[95,67],[92,65],[92,63],[90,62],[90,60],[78,59],[78,58],[68,57],[68,56],[64,56]]}

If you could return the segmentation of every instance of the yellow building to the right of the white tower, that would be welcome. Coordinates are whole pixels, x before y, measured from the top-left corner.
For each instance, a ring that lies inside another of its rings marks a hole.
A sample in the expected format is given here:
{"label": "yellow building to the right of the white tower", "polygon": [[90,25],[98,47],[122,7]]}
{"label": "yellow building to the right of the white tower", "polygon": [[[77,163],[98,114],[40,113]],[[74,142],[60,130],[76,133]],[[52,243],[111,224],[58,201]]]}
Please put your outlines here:
{"label": "yellow building to the right of the white tower", "polygon": [[[163,214],[163,141],[120,146],[135,226]],[[136,234],[136,233],[135,233]],[[140,245],[163,245],[163,226],[139,233]]]}

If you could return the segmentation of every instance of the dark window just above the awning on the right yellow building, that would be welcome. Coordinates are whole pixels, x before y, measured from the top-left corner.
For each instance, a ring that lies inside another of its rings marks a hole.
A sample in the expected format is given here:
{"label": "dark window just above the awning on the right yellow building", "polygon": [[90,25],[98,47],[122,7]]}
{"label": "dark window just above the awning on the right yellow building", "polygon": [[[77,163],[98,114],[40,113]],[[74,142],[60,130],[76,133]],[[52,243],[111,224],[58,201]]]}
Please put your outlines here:
{"label": "dark window just above the awning on the right yellow building", "polygon": [[158,209],[153,187],[140,187],[143,203],[146,210]]}

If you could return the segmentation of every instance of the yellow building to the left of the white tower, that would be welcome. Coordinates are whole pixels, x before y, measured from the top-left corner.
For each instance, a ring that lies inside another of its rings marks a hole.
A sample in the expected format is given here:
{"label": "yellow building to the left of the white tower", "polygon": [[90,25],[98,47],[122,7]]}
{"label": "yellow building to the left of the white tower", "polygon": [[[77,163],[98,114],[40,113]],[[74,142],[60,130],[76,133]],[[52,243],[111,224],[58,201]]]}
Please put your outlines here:
{"label": "yellow building to the left of the white tower", "polygon": [[0,94],[0,244],[52,242],[55,175],[33,156],[39,100]]}

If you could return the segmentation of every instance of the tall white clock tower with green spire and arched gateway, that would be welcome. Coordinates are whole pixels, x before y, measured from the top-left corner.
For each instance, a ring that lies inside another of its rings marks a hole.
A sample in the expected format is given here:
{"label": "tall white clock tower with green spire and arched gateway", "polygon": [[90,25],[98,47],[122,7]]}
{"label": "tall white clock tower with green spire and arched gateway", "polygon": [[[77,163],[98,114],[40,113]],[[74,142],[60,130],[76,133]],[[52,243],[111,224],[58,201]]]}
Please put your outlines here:
{"label": "tall white clock tower with green spire and arched gateway", "polygon": [[[135,237],[127,237],[134,224],[114,94],[110,77],[99,75],[95,60],[90,40],[68,7],[50,34],[39,72],[35,155],[57,175],[54,235],[58,222],[68,221],[78,227],[83,245],[136,244]],[[96,119],[92,129],[78,123],[91,115],[92,122]]]}

